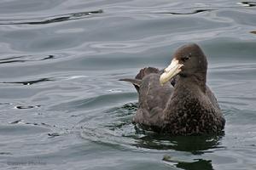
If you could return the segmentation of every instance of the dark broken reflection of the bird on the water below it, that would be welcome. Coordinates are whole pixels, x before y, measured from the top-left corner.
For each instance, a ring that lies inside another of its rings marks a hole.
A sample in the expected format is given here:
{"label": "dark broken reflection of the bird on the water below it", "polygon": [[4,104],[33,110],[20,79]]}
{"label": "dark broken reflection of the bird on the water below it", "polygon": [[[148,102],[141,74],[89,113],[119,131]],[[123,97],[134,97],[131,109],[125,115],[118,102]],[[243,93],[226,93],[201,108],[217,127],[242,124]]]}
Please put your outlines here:
{"label": "dark broken reflection of the bird on the water below it", "polygon": [[201,135],[201,136],[175,136],[168,137],[163,134],[145,133],[141,138],[137,139],[134,144],[139,148],[146,148],[151,150],[177,150],[190,152],[199,159],[193,161],[178,161],[172,159],[172,156],[163,156],[163,161],[172,164],[172,166],[179,167],[186,170],[204,169],[212,170],[212,161],[204,160],[201,155],[212,152],[212,149],[221,148],[220,139],[224,133],[218,135]]}

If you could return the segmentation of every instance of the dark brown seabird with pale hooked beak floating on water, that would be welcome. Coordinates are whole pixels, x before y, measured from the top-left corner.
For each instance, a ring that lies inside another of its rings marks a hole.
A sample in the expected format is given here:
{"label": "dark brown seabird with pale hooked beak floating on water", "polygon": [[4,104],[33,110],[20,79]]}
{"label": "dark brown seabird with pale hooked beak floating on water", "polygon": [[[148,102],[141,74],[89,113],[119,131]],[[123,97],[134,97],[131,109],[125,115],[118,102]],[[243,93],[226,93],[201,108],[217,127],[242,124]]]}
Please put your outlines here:
{"label": "dark brown seabird with pale hooked beak floating on water", "polygon": [[191,43],[178,48],[164,71],[142,69],[131,82],[139,95],[132,122],[171,135],[221,133],[224,116],[207,87],[207,57]]}

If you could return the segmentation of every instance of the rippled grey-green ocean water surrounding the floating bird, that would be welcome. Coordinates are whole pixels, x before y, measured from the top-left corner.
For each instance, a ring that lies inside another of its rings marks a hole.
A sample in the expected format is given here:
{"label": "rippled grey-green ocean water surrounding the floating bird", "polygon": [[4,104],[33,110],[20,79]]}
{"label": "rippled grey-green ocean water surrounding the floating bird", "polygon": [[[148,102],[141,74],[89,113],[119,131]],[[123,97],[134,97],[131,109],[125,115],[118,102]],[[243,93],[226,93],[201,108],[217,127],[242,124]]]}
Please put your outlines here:
{"label": "rippled grey-green ocean water surrounding the floating bird", "polygon": [[[255,1],[0,1],[0,169],[256,169],[255,33]],[[188,42],[224,134],[137,130],[136,90],[117,80]]]}

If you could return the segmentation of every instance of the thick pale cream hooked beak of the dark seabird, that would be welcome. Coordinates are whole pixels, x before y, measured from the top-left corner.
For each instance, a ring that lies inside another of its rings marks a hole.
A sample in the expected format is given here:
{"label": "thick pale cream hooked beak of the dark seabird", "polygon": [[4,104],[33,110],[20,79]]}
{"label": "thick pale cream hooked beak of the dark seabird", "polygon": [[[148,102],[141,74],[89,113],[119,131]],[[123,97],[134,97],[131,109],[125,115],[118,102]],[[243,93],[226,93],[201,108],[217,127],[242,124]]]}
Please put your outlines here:
{"label": "thick pale cream hooked beak of the dark seabird", "polygon": [[175,77],[180,71],[183,64],[178,63],[177,59],[172,59],[171,65],[169,65],[163,74],[160,76],[160,84],[163,86],[172,77]]}

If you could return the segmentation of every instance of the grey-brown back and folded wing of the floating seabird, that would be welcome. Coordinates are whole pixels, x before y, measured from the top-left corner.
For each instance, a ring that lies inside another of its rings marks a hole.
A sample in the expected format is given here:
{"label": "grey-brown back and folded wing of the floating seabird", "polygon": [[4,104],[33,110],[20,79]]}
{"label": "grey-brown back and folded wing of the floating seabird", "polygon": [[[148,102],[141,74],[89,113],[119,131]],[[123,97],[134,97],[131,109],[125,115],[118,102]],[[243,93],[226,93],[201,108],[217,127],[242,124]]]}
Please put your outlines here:
{"label": "grey-brown back and folded wing of the floating seabird", "polygon": [[142,69],[137,77],[142,78],[142,82],[138,90],[138,110],[133,122],[146,129],[160,131],[164,126],[163,111],[173,91],[171,82],[161,86],[160,71],[148,68]]}

